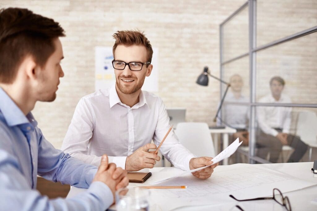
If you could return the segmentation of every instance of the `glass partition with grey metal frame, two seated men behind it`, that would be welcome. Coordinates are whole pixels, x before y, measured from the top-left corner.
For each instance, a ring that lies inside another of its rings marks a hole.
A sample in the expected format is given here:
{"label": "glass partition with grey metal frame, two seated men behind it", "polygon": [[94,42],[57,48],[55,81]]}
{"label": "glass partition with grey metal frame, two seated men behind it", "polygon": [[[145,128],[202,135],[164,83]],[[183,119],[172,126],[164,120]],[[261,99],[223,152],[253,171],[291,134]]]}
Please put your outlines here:
{"label": "glass partition with grey metal frame, two seated men behind it", "polygon": [[238,149],[249,163],[314,157],[317,1],[244,3],[220,24],[220,77],[231,87],[218,122],[249,142]]}

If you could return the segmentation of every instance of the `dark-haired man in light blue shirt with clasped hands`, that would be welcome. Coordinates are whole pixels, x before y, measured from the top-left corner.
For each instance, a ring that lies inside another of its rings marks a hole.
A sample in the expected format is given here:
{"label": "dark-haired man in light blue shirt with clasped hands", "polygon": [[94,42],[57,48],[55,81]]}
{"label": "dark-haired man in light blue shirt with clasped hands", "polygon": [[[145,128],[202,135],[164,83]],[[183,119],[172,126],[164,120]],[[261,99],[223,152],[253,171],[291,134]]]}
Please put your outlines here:
{"label": "dark-haired man in light blue shirt with clasped hands", "polygon": [[[116,189],[128,184],[126,171],[99,168],[55,149],[31,114],[37,101],[54,101],[64,76],[59,23],[27,9],[0,10],[0,210],[105,210]],[[49,200],[36,177],[88,188],[74,198]]]}

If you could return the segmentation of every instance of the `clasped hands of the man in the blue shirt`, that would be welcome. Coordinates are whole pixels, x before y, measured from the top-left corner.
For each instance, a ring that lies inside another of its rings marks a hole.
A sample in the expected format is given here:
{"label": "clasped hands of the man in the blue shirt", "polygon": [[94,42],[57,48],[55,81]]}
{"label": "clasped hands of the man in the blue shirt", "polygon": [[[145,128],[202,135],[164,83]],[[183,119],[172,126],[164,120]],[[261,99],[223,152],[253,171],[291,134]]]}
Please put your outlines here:
{"label": "clasped hands of the man in the blue shirt", "polygon": [[101,162],[98,171],[93,179],[93,182],[100,181],[105,183],[111,190],[113,194],[117,189],[126,187],[129,184],[128,177],[126,177],[127,172],[122,168],[116,168],[116,164],[108,164],[108,156],[105,154],[101,158]]}

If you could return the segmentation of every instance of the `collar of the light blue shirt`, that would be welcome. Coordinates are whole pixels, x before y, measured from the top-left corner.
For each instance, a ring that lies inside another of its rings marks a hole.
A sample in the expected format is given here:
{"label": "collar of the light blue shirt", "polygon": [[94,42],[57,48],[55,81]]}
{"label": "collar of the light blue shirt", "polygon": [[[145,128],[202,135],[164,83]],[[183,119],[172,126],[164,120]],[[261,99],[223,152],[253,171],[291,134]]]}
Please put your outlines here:
{"label": "collar of the light blue shirt", "polygon": [[34,127],[37,125],[31,112],[25,116],[21,109],[2,88],[0,88],[0,99],[1,113],[10,127],[30,123],[30,121]]}

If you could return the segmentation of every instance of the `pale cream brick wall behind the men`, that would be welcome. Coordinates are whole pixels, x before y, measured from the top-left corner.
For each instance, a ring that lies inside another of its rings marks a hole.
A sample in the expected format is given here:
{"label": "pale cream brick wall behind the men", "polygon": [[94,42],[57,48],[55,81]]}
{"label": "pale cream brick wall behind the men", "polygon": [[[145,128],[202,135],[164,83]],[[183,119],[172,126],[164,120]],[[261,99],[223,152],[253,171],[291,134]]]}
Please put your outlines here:
{"label": "pale cream brick wall behind the men", "polygon": [[[66,31],[67,37],[61,38],[65,77],[61,79],[57,98],[51,103],[38,102],[33,111],[45,137],[60,148],[77,102],[94,92],[94,47],[113,46],[112,34],[117,30],[144,30],[152,46],[159,48],[159,91],[155,94],[162,97],[167,107],[185,107],[187,121],[212,124],[219,101],[219,83],[210,79],[210,85],[202,87],[195,81],[205,65],[219,76],[219,24],[245,1],[2,0],[0,7],[31,9],[54,18]],[[313,3],[304,5],[311,7]],[[297,21],[298,25],[307,22],[304,18]],[[241,36],[245,38],[245,32]],[[266,36],[269,35],[262,37]],[[236,42],[227,46],[239,48]],[[228,69],[226,74],[245,71],[243,77],[248,85],[248,63],[240,63],[241,69],[228,64],[231,72]]]}

